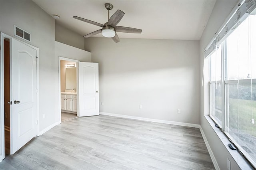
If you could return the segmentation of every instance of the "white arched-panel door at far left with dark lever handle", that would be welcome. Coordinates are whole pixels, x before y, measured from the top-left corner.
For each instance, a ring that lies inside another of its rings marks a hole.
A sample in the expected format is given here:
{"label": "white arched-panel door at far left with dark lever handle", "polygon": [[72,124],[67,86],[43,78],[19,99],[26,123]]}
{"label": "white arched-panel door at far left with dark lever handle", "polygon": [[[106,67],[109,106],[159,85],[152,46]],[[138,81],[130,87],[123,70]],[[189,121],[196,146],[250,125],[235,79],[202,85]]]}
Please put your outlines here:
{"label": "white arched-panel door at far left with dark lever handle", "polygon": [[10,39],[10,152],[37,133],[36,49]]}

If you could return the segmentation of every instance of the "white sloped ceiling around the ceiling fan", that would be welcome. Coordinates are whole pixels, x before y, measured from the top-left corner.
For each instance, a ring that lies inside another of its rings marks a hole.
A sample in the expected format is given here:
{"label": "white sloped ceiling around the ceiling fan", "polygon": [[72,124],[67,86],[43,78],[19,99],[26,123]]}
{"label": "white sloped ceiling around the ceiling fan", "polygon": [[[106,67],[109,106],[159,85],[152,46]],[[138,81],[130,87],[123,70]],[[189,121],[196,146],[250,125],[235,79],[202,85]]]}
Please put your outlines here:
{"label": "white sloped ceiling around the ceiling fan", "polygon": [[[101,27],[72,18],[79,16],[104,24],[111,3],[125,15],[118,26],[142,29],[142,34],[120,33],[120,38],[147,38],[168,40],[200,40],[216,0],[34,0],[51,16],[60,16],[56,22],[81,36]],[[101,34],[95,37],[102,37]]]}

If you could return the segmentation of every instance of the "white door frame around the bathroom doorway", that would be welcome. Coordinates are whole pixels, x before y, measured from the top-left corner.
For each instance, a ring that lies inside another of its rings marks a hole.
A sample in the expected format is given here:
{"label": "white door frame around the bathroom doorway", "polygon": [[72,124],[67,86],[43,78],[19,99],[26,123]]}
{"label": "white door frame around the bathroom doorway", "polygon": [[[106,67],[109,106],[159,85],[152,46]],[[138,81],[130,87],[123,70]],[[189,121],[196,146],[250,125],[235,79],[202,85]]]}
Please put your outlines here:
{"label": "white door frame around the bathroom doorway", "polygon": [[[79,91],[79,87],[78,87],[78,62],[80,62],[80,60],[76,60],[76,59],[71,59],[71,58],[66,58],[66,57],[59,57],[59,123],[61,123],[61,88],[60,88],[60,60],[65,60],[65,61],[73,61],[76,62],[76,98],[77,98],[77,102],[76,102],[76,107],[78,108],[79,106],[79,99],[78,99],[78,91]],[[76,116],[79,116],[79,109],[77,109],[76,111]]]}

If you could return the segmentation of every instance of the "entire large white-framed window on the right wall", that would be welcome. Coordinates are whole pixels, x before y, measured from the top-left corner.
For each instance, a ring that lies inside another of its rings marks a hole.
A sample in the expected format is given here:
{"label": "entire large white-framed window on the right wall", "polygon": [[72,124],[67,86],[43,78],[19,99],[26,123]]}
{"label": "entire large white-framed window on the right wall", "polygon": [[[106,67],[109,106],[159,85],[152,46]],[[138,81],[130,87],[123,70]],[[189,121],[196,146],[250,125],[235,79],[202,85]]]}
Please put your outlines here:
{"label": "entire large white-framed window on the right wall", "polygon": [[217,38],[207,56],[210,117],[255,168],[256,9]]}

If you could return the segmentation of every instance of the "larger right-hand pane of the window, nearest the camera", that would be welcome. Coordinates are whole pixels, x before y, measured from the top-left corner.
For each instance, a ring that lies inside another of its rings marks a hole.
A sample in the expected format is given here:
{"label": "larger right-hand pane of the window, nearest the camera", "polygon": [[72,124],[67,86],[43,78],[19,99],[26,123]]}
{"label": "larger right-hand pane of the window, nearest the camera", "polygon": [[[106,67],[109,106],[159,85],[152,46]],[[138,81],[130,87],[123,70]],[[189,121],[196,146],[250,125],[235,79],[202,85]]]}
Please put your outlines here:
{"label": "larger right-hand pane of the window, nearest the camera", "polygon": [[226,41],[226,134],[256,164],[256,15],[250,15]]}

